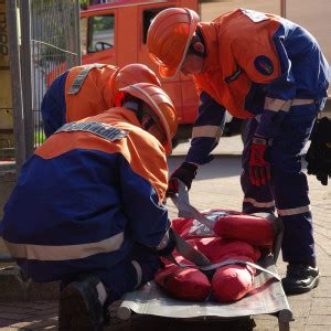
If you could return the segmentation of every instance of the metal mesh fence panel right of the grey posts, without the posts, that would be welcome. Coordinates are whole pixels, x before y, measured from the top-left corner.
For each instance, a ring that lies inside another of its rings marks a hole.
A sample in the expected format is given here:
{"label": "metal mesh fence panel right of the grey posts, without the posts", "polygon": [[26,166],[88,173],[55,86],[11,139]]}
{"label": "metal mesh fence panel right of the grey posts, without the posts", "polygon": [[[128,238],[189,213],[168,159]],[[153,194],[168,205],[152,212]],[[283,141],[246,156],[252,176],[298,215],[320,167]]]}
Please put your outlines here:
{"label": "metal mesh fence panel right of the grey posts, without the posts", "polygon": [[77,10],[75,1],[31,1],[34,146],[44,139],[40,105],[46,88],[66,68],[81,63]]}

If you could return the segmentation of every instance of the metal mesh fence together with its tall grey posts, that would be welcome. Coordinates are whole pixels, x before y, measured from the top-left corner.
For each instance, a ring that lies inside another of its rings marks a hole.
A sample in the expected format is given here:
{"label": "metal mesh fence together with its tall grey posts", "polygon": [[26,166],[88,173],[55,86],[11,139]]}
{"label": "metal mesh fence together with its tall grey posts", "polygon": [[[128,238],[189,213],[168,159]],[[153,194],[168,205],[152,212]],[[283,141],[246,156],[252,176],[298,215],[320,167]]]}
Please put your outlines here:
{"label": "metal mesh fence together with its tall grey posts", "polygon": [[6,0],[6,17],[13,118],[13,146],[6,148],[14,151],[19,170],[45,139],[40,107],[47,87],[81,64],[79,1]]}

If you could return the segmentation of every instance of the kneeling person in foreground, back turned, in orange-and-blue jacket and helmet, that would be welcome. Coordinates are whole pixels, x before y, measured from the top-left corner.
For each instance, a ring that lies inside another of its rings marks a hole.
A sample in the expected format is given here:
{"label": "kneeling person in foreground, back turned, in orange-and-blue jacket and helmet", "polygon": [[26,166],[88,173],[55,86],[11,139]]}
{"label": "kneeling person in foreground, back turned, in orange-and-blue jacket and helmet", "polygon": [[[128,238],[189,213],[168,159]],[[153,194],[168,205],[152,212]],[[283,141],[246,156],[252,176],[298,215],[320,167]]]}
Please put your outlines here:
{"label": "kneeling person in foreground, back turned, in orange-and-blue jacket and helmet", "polygon": [[162,201],[174,107],[147,83],[121,89],[116,105],[36,149],[0,223],[34,281],[62,280],[60,330],[99,330],[108,305],[151,280],[173,248]]}

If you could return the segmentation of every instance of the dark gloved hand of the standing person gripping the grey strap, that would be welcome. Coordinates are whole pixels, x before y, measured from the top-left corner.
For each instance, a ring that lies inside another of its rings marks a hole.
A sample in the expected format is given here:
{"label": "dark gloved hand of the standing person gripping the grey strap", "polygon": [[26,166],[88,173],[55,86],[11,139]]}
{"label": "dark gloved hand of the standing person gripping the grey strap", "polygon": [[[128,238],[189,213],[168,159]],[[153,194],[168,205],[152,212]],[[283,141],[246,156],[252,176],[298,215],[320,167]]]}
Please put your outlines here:
{"label": "dark gloved hand of the standing person gripping the grey strap", "polygon": [[192,185],[192,181],[196,175],[196,169],[197,167],[195,164],[190,162],[183,162],[170,175],[166,195],[170,197],[173,194],[178,193],[178,180],[182,181],[186,185],[188,190],[190,190]]}

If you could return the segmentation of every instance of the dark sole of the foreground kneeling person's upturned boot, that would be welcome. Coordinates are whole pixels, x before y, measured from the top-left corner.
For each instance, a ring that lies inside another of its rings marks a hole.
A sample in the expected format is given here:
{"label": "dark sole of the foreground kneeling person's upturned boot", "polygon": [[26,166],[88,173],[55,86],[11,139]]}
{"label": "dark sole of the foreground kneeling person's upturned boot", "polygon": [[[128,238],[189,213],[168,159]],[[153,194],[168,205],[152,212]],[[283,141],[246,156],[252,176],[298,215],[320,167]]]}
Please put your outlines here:
{"label": "dark sole of the foreground kneeling person's upturned boot", "polygon": [[100,331],[103,325],[89,317],[89,307],[78,288],[68,285],[61,293],[60,331]]}

